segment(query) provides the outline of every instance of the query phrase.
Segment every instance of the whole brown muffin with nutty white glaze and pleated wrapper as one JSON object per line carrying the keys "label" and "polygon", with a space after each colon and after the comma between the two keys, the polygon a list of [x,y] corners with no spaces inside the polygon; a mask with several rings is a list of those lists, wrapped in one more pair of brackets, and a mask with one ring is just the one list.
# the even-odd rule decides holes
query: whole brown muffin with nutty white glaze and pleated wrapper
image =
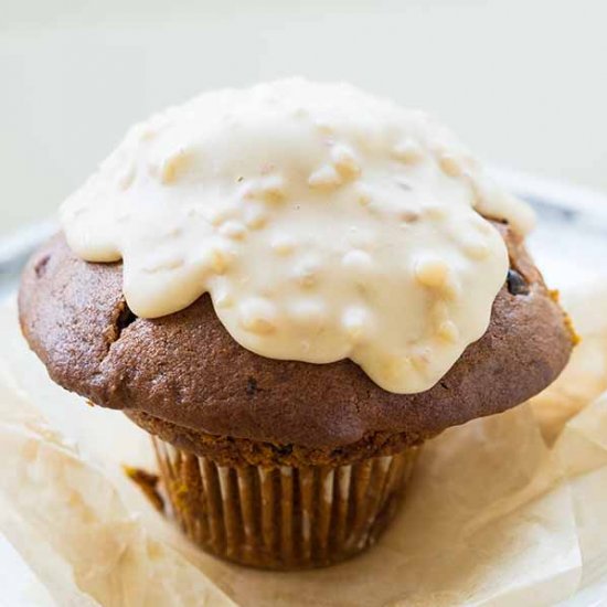
{"label": "whole brown muffin with nutty white glaze and pleated wrapper", "polygon": [[424,441],[533,396],[575,334],[531,211],[443,126],[342,84],[136,125],[28,264],[51,377],[151,436],[170,515],[264,568],[352,556]]}

